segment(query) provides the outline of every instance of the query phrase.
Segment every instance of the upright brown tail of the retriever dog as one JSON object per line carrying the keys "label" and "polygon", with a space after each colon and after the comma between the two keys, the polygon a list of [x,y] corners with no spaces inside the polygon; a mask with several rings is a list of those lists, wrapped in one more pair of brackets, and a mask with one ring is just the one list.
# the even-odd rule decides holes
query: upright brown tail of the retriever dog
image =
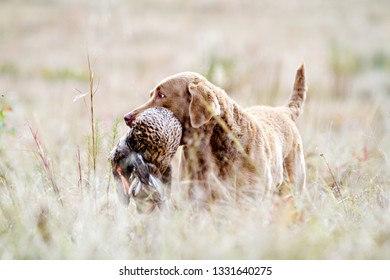
{"label": "upright brown tail of the retriever dog", "polygon": [[295,121],[301,114],[303,103],[306,99],[305,65],[302,63],[295,76],[294,89],[288,103],[291,117]]}

